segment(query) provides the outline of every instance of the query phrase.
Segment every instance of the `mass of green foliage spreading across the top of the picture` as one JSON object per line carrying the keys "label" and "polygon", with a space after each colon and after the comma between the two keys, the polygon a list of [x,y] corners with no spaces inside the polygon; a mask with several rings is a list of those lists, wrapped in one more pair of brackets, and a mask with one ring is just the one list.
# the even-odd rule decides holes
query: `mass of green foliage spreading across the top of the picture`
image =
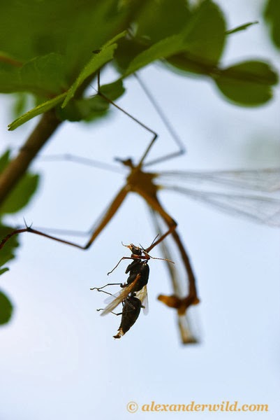
{"label": "mass of green foliage spreading across the top of the picture", "polygon": [[[105,116],[108,106],[102,104],[100,109],[97,99],[85,99],[83,94],[108,63],[124,79],[161,60],[185,76],[196,73],[214,79],[235,104],[264,104],[277,82],[270,64],[241,62],[223,69],[221,63],[227,36],[253,23],[240,22],[239,27],[227,29],[221,8],[211,0],[195,6],[186,0],[2,2],[0,92],[29,92],[37,104],[10,130],[52,108],[61,120]],[[267,71],[260,71],[262,66]],[[111,96],[117,99],[123,92]]]}

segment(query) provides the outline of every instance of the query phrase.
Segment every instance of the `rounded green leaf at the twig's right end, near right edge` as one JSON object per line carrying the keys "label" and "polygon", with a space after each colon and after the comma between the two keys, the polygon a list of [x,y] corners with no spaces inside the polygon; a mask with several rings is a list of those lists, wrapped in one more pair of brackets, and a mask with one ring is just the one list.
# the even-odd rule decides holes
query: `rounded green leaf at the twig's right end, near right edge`
{"label": "rounded green leaf at the twig's right end, near right edge", "polygon": [[278,76],[270,64],[247,61],[221,70],[214,80],[230,101],[258,106],[272,98],[272,85],[278,82]]}

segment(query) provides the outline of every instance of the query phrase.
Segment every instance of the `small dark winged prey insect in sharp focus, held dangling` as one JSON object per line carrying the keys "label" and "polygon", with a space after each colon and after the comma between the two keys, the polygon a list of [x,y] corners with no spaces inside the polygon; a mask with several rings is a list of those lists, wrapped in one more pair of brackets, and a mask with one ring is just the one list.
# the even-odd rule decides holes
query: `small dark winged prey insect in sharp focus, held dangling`
{"label": "small dark winged prey insect in sharp focus, held dangling", "polygon": [[115,315],[121,315],[121,325],[119,325],[119,330],[117,332],[117,335],[114,335],[114,338],[121,338],[122,335],[124,335],[131,326],[135,323],[137,320],[141,307],[145,309],[145,312],[147,312],[147,283],[149,280],[149,265],[148,261],[150,258],[153,258],[155,260],[165,260],[169,263],[173,263],[172,261],[168,260],[167,258],[155,258],[151,257],[149,255],[149,251],[154,248],[154,246],[158,245],[172,233],[172,231],[175,228],[171,228],[166,232],[164,235],[162,235],[157,241],[153,241],[152,245],[149,246],[149,248],[140,248],[138,246],[135,246],[133,244],[130,245],[124,245],[126,248],[131,250],[131,256],[130,257],[123,257],[117,265],[110,271],[108,274],[112,273],[115,268],[119,265],[119,263],[122,260],[131,259],[133,262],[126,267],[126,274],[129,274],[128,279],[126,280],[126,283],[108,283],[105,286],[101,288],[91,288],[91,290],[98,290],[102,291],[103,293],[107,293],[109,295],[112,295],[112,293],[108,293],[107,291],[103,290],[103,288],[107,286],[114,286],[118,284],[121,286],[121,289],[119,293],[112,297],[114,299],[112,302],[108,304],[105,309],[98,309],[102,310],[101,315],[109,314],[110,312],[113,312],[113,310],[120,304],[123,304],[123,309],[119,314]]}

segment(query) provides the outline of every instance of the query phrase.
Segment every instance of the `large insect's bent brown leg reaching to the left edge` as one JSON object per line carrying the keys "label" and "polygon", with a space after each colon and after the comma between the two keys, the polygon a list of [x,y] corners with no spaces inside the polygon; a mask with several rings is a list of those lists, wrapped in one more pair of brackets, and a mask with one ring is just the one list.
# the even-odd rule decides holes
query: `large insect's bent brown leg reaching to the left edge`
{"label": "large insect's bent brown leg reaching to the left edge", "polygon": [[121,203],[124,201],[127,193],[128,193],[128,190],[126,189],[126,186],[124,186],[124,188],[121,188],[119,193],[116,195],[115,199],[112,200],[112,203],[108,207],[108,210],[105,212],[104,216],[101,218],[101,222],[94,229],[94,232],[91,233],[91,237],[89,238],[89,241],[87,241],[87,244],[85,244],[84,246],[80,245],[80,244],[76,244],[75,242],[72,242],[72,241],[66,241],[65,239],[54,237],[52,235],[47,235],[44,232],[40,232],[39,230],[32,229],[31,226],[27,226],[27,228],[25,228],[25,229],[14,230],[13,232],[10,232],[6,237],[4,237],[1,241],[1,243],[0,243],[0,250],[6,244],[8,239],[10,239],[10,237],[13,237],[14,235],[18,235],[18,234],[23,233],[23,232],[34,233],[35,235],[40,235],[40,236],[43,236],[43,237],[46,237],[46,238],[49,238],[49,239],[53,239],[54,241],[61,242],[62,244],[75,246],[76,248],[80,248],[80,249],[83,249],[83,250],[88,249],[91,246],[91,244],[94,242],[96,237],[98,237],[98,235],[101,233],[101,231],[110,222],[111,218],[115,215],[115,213],[117,212],[117,210],[121,206]]}

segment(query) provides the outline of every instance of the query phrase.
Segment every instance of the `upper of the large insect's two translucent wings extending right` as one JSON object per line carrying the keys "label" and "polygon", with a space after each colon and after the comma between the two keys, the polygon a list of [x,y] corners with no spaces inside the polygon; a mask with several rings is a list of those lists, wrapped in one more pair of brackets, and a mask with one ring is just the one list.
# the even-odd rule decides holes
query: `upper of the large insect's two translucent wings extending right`
{"label": "upper of the large insect's two translucent wings extending right", "polygon": [[280,189],[280,168],[243,169],[234,171],[166,171],[158,174],[163,183],[188,183],[203,188],[229,187],[271,193]]}

